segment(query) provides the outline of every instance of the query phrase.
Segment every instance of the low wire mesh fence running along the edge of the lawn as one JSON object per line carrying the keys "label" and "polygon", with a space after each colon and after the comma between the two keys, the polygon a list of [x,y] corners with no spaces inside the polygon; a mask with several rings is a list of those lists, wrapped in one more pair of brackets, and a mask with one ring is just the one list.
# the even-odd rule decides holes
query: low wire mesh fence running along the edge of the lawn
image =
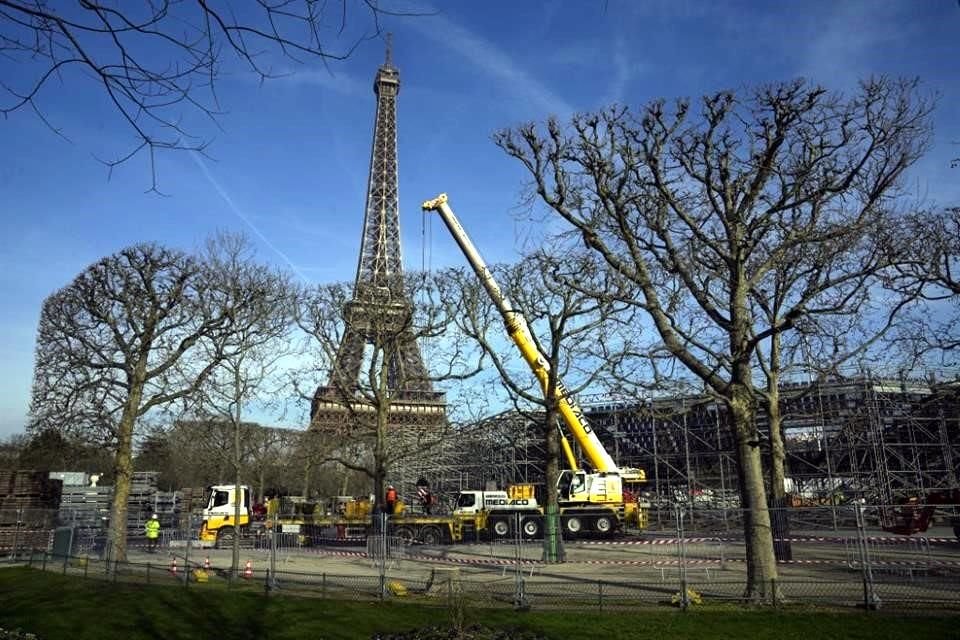
{"label": "low wire mesh fence running along the edge of the lawn", "polygon": [[[201,563],[106,562],[98,558],[32,553],[25,562],[38,569],[114,583],[180,585],[210,588],[220,583],[270,595],[306,595],[350,600],[403,599],[437,606],[514,607],[535,609],[615,610],[669,604],[687,608],[701,602],[743,601],[744,581],[722,573],[667,572],[622,579],[593,579],[549,575],[527,576],[506,571],[482,579],[462,574],[456,567],[435,567],[422,574],[409,571],[386,574],[306,572],[253,568],[249,561],[236,574],[229,566]],[[202,573],[201,573],[202,572]],[[782,578],[766,590],[766,602],[775,606],[816,604],[831,607],[948,608],[958,607],[960,580],[956,576],[888,576],[872,585],[856,574],[845,579]]]}

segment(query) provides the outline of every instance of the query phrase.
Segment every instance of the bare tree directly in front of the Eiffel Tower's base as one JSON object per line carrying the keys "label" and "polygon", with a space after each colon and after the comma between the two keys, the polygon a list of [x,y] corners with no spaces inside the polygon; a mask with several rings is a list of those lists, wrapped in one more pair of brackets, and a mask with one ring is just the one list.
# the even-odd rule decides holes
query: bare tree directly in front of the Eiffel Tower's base
{"label": "bare tree directly in front of the Eiffel Tower's base", "polygon": [[[444,291],[451,282],[442,276],[408,273],[402,286],[401,300],[384,298],[394,295],[385,287],[354,291],[351,285],[333,284],[308,289],[299,296],[296,311],[297,323],[317,363],[312,368],[314,376],[302,372],[300,388],[304,389],[305,380],[326,376],[332,390],[327,398],[301,393],[314,402],[312,416],[317,415],[318,402],[334,408],[340,416],[336,425],[325,428],[332,430],[327,437],[341,446],[324,453],[329,460],[372,481],[378,509],[383,505],[387,475],[405,462],[424,459],[447,435],[447,420],[442,415],[434,420],[410,411],[410,403],[419,401],[408,394],[420,392],[408,390],[422,389],[426,383],[434,386],[464,380],[480,370],[476,349],[451,335],[454,318],[462,313],[459,298]],[[362,326],[366,336],[359,380],[349,380],[336,369],[350,323]],[[432,371],[418,373],[417,367],[402,362],[400,355],[410,351],[409,340],[421,346],[442,343],[430,347],[442,351],[442,356],[424,358]],[[311,428],[324,425],[312,424]]]}

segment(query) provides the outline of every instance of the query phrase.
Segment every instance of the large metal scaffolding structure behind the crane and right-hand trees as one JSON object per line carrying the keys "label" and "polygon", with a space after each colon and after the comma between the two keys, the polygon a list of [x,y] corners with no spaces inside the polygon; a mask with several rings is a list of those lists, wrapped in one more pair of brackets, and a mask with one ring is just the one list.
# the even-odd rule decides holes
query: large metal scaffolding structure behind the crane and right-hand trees
{"label": "large metal scaffolding structure behind the crane and right-hand trees", "polygon": [[[739,506],[725,407],[706,395],[583,403],[618,464],[647,474],[656,506]],[[960,383],[870,375],[781,387],[788,491],[803,504],[892,504],[958,486]],[[757,416],[769,455],[769,425]],[[543,482],[543,425],[516,412],[464,429],[434,459],[448,490]]]}

